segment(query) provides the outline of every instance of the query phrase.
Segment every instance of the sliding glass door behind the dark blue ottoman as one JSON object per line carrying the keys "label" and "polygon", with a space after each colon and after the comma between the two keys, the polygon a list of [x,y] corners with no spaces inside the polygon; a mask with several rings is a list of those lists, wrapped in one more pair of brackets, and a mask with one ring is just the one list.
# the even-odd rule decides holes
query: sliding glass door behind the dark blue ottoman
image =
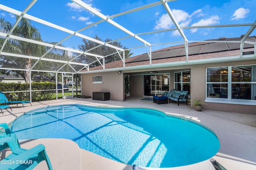
{"label": "sliding glass door behind the dark blue ottoman", "polygon": [[148,74],[143,77],[144,96],[156,96],[169,91],[169,74]]}

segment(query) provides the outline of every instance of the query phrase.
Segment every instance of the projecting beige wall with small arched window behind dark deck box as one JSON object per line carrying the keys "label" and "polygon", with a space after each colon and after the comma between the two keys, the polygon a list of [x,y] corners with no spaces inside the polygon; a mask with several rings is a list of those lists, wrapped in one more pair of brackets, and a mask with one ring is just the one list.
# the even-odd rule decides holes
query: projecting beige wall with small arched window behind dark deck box
{"label": "projecting beige wall with small arched window behind dark deck box", "polygon": [[[102,83],[93,83],[93,76],[102,76]],[[124,77],[116,72],[82,74],[82,95],[91,96],[92,92],[110,92],[110,100],[123,101]]]}

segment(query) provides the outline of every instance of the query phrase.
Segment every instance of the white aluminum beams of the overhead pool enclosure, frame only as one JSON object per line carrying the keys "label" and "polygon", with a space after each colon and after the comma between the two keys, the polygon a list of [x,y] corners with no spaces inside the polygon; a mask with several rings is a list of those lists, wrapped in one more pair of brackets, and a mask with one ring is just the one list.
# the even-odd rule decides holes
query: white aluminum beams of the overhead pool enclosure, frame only
{"label": "white aluminum beams of the overhead pool enclosure, frame only", "polygon": [[[54,59],[46,59],[44,58],[44,56],[49,52],[47,51],[44,55],[40,56],[40,57],[33,57],[33,56],[26,56],[26,55],[17,55],[17,54],[13,54],[13,53],[4,53],[2,52],[3,48],[4,48],[4,45],[1,47],[0,49],[0,54],[1,55],[9,55],[9,56],[13,56],[13,57],[22,57],[22,58],[30,58],[30,59],[35,59],[37,60],[36,63],[27,71],[35,71],[33,70],[34,66],[38,63],[38,61],[42,60],[42,61],[52,61],[52,62],[58,62],[58,63],[63,63],[63,66],[61,68],[63,68],[64,66],[68,65],[70,68],[72,68],[72,70],[74,70],[74,74],[76,73],[88,73],[88,72],[91,72],[90,71],[90,64],[92,63],[95,63],[95,62],[99,62],[100,65],[102,66],[102,70],[100,71],[110,71],[110,70],[124,70],[124,69],[134,69],[134,68],[140,68],[142,66],[135,66],[135,67],[131,67],[131,68],[126,68],[126,64],[125,64],[125,56],[124,56],[124,51],[126,50],[130,50],[130,49],[136,49],[136,48],[142,48],[142,47],[149,47],[149,51],[148,51],[148,57],[149,57],[149,64],[146,65],[146,67],[162,67],[162,66],[167,66],[167,65],[177,65],[177,64],[188,64],[188,63],[194,63],[194,62],[204,62],[204,63],[209,63],[209,62],[213,62],[215,61],[216,59],[208,59],[207,61],[204,60],[204,61],[192,61],[192,60],[189,60],[189,57],[188,57],[188,43],[190,42],[220,42],[220,43],[225,43],[227,41],[193,41],[193,40],[188,40],[186,38],[186,35],[184,34],[184,32],[182,31],[183,29],[195,29],[195,28],[215,28],[215,27],[245,27],[245,26],[250,26],[250,28],[248,29],[248,31],[246,32],[246,34],[242,37],[241,41],[228,41],[230,43],[240,43],[240,56],[237,58],[236,56],[233,58],[233,59],[229,59],[230,61],[231,60],[239,60],[239,59],[242,59],[243,58],[243,55],[242,55],[242,51],[243,51],[243,48],[244,48],[244,43],[250,43],[250,44],[254,44],[254,47],[256,47],[256,42],[248,42],[246,41],[246,39],[250,36],[250,34],[254,31],[254,29],[256,28],[256,21],[254,23],[243,23],[243,24],[228,24],[228,25],[204,25],[204,26],[190,26],[190,27],[180,27],[180,25],[178,24],[178,22],[176,21],[176,18],[174,17],[168,3],[172,3],[172,1],[175,1],[175,0],[159,0],[158,2],[154,2],[152,4],[147,4],[147,5],[144,5],[144,6],[141,6],[141,7],[138,7],[138,8],[134,8],[134,9],[131,9],[131,10],[127,10],[127,11],[124,11],[124,12],[120,12],[119,14],[114,14],[112,16],[106,16],[102,13],[100,13],[98,10],[92,8],[89,4],[86,4],[85,2],[83,2],[82,0],[71,0],[72,2],[76,3],[77,5],[79,5],[80,7],[82,7],[84,10],[87,10],[88,12],[91,12],[92,14],[94,14],[95,16],[98,16],[98,18],[100,19],[99,21],[96,21],[95,23],[92,23],[86,27],[83,27],[77,31],[73,31],[73,30],[70,30],[70,29],[67,29],[65,27],[62,27],[60,25],[56,25],[55,23],[51,23],[49,21],[45,21],[45,20],[42,20],[40,18],[36,18],[32,15],[29,15],[29,14],[26,14],[28,12],[28,10],[34,5],[36,4],[37,0],[32,0],[30,2],[30,4],[28,4],[28,6],[21,12],[21,11],[18,11],[18,10],[15,10],[13,8],[10,8],[8,6],[4,6],[2,4],[0,4],[0,10],[4,10],[6,12],[9,12],[11,14],[14,14],[16,16],[19,16],[18,17],[18,20],[14,23],[14,26],[12,27],[11,31],[6,34],[6,33],[2,33],[0,32],[0,36],[1,37],[4,37],[5,38],[5,43],[6,41],[9,39],[9,38],[12,38],[12,39],[17,39],[17,40],[21,40],[21,41],[26,41],[26,42],[30,42],[30,43],[35,43],[35,44],[39,44],[39,45],[44,45],[44,46],[47,46],[47,47],[50,47],[49,51],[53,48],[57,48],[57,49],[63,49],[63,50],[66,50],[66,51],[70,51],[70,52],[74,52],[74,53],[78,53],[78,55],[76,57],[74,57],[73,59],[70,59],[70,61],[61,61],[61,60],[54,60]],[[115,22],[112,20],[112,18],[115,18],[115,17],[118,17],[118,16],[123,16],[123,15],[126,15],[126,14],[130,14],[132,12],[137,12],[137,11],[140,11],[140,10],[144,10],[144,9],[147,9],[147,8],[152,8],[154,6],[158,6],[158,5],[161,5],[163,6],[163,8],[166,10],[167,14],[170,16],[170,19],[173,21],[174,25],[175,25],[175,28],[173,29],[166,29],[166,30],[159,30],[159,31],[151,31],[151,32],[144,32],[144,33],[133,33],[132,31],[126,29],[125,27],[123,27],[122,25],[120,25],[119,23]],[[11,35],[12,31],[15,29],[15,27],[18,25],[19,21],[22,19],[22,18],[27,18],[28,20],[32,20],[32,21],[36,21],[38,23],[41,23],[41,24],[44,24],[44,25],[47,25],[48,27],[52,27],[54,29],[58,29],[60,31],[63,31],[63,32],[66,32],[68,33],[69,35],[67,37],[64,37],[61,41],[59,41],[58,43],[52,45],[52,44],[49,44],[49,43],[44,43],[44,42],[40,42],[40,41],[34,41],[34,40],[31,40],[31,39],[26,39],[26,38],[23,38],[23,37],[18,37],[18,36],[14,36],[14,35]],[[119,47],[115,47],[113,45],[110,45],[110,42],[102,42],[102,41],[98,41],[97,39],[94,39],[94,38],[91,38],[91,37],[88,37],[82,33],[80,33],[81,31],[85,30],[85,29],[88,29],[98,23],[101,23],[101,22],[106,22],[108,24],[111,24],[113,25],[114,27],[120,29],[121,31],[123,31],[124,33],[127,33],[128,36],[127,37],[120,37],[119,39],[115,39],[113,41],[118,41],[118,40],[122,40],[122,39],[127,39],[127,38],[130,38],[130,37],[133,37],[134,39],[138,40],[138,41],[141,41],[144,45],[142,46],[138,46],[138,47],[131,47],[130,49],[122,49],[122,48],[119,48]],[[153,34],[153,33],[159,33],[159,32],[164,32],[164,31],[174,31],[174,30],[178,30],[178,32],[180,33],[180,35],[182,36],[183,38],[183,41],[180,41],[180,42],[169,42],[169,43],[157,43],[157,44],[152,44],[150,42],[147,42],[146,40],[142,39],[141,37],[139,37],[139,35],[145,35],[145,34]],[[58,46],[60,43],[62,43],[63,41],[69,39],[70,37],[72,36],[77,36],[77,37],[80,37],[80,38],[84,38],[84,39],[87,39],[87,40],[90,40],[90,41],[93,41],[93,42],[96,42],[96,43],[99,43],[100,45],[98,45],[97,47],[100,47],[102,45],[105,45],[107,47],[110,47],[110,48],[113,48],[115,49],[115,53],[113,54],[118,54],[123,62],[123,68],[116,68],[116,69],[105,69],[105,60],[104,58],[105,57],[108,57],[110,55],[113,55],[113,54],[109,54],[109,55],[106,55],[106,56],[100,56],[100,55],[97,55],[97,54],[92,54],[92,53],[89,53],[92,49],[89,49],[87,51],[79,51],[79,50],[75,50],[75,49],[69,49],[69,48],[66,48],[66,47],[60,47]],[[172,62],[172,63],[162,63],[162,64],[152,64],[152,45],[161,45],[161,44],[172,44],[172,43],[183,43],[184,44],[184,47],[185,47],[185,53],[186,53],[186,63],[184,62]],[[94,47],[93,49],[97,48],[97,47]],[[123,53],[123,56],[120,55],[120,52]],[[254,48],[254,55],[253,56],[250,56],[252,57],[252,59],[256,59],[256,55],[255,55],[255,52],[256,52],[256,48]],[[86,64],[86,63],[76,63],[74,62],[74,60],[76,58],[78,58],[80,55],[88,55],[88,56],[92,56],[92,57],[95,57],[95,61],[93,61],[92,63],[89,63],[89,64]],[[103,62],[101,63],[100,62],[100,59],[103,59]],[[220,58],[220,60],[225,60],[226,61],[226,58],[225,57],[222,57]],[[83,68],[80,69],[80,70],[75,70],[70,64],[76,64],[76,65],[82,65]],[[60,72],[60,69],[58,70],[55,70],[56,72]],[[3,68],[0,68],[0,69],[3,69]],[[86,71],[83,71],[86,69]],[[25,69],[24,69],[25,70]],[[94,72],[94,71],[93,71]]]}

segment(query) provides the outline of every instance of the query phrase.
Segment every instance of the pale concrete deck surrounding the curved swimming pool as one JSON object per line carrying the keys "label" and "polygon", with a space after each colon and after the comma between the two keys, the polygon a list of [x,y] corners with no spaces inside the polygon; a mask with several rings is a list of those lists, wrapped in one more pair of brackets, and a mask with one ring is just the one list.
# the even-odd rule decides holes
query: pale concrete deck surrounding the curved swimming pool
{"label": "pale concrete deck surrounding the curved swimming pool", "polygon": [[[32,109],[54,106],[59,104],[86,104],[89,106],[117,106],[117,107],[152,107],[165,111],[167,114],[178,115],[198,121],[211,128],[220,140],[220,150],[213,156],[222,166],[228,170],[255,170],[256,169],[256,115],[229,113],[221,111],[203,110],[201,112],[190,110],[189,106],[176,102],[169,104],[155,104],[150,101],[140,100],[142,97],[128,97],[126,101],[97,101],[92,98],[70,98],[64,100],[49,100],[32,102],[16,107],[11,105],[12,110],[4,109],[0,114],[0,123],[10,123],[26,111]],[[51,160],[53,169],[58,170],[132,170],[131,165],[122,164],[79,149],[78,145],[68,139],[36,139],[20,141],[24,148],[31,148],[42,143]],[[210,146],[209,146],[210,147]],[[3,154],[1,154],[1,158]],[[36,170],[45,170],[46,163],[43,161]],[[209,160],[180,166],[175,168],[142,168],[140,170],[214,170]]]}

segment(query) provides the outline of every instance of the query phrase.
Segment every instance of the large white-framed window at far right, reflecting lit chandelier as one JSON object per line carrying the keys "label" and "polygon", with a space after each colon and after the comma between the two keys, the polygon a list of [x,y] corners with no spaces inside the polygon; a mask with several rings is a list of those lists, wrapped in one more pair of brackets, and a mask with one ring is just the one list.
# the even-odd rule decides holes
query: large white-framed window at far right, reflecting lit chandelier
{"label": "large white-framed window at far right, reflecting lit chandelier", "polygon": [[206,97],[256,100],[256,66],[207,68]]}

